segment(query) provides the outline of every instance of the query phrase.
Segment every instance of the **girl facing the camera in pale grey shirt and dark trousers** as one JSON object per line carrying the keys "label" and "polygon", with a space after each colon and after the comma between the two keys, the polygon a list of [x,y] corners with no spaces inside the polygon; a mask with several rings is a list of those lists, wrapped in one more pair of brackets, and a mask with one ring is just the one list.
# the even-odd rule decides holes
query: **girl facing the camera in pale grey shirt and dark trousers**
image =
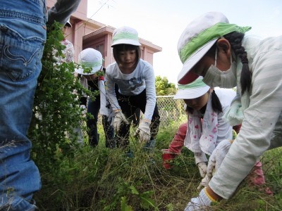
{"label": "girl facing the camera in pale grey shirt and dark trousers", "polygon": [[[135,132],[145,147],[154,148],[159,129],[159,111],[152,65],[140,58],[138,33],[124,26],[114,30],[113,47],[115,63],[106,68],[107,94],[114,110],[116,145],[128,148],[130,122],[135,110],[140,108],[143,119]],[[115,92],[118,84],[118,92]]]}

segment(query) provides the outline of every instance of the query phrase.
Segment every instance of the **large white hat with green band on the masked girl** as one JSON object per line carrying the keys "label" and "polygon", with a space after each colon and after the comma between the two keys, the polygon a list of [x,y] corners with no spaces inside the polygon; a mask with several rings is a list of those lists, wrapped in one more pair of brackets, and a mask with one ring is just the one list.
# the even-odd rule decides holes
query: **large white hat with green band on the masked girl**
{"label": "large white hat with green band on the masked girl", "polygon": [[190,70],[212,48],[217,39],[230,32],[245,33],[251,27],[229,24],[223,13],[209,12],[193,20],[180,35],[178,55],[183,68],[178,74],[178,84],[188,84],[197,77]]}

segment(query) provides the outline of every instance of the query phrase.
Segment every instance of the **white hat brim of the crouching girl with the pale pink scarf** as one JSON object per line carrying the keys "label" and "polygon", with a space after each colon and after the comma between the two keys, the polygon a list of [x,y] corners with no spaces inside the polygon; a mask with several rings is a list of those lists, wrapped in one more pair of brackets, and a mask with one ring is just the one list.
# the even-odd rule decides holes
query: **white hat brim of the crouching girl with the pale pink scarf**
{"label": "white hat brim of the crouching girl with the pale pink scarf", "polygon": [[209,91],[209,86],[194,89],[178,89],[173,99],[194,99],[206,94],[207,91]]}

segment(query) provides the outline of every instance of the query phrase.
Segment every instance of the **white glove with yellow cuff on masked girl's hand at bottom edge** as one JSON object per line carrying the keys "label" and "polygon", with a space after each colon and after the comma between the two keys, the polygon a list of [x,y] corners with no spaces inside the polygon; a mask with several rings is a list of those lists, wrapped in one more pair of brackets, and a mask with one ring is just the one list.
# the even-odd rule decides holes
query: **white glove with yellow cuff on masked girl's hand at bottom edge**
{"label": "white glove with yellow cuff on masked girl's hand at bottom edge", "polygon": [[209,210],[208,208],[212,205],[212,202],[216,202],[216,200],[214,200],[212,196],[209,196],[206,188],[203,188],[198,197],[191,198],[184,211]]}

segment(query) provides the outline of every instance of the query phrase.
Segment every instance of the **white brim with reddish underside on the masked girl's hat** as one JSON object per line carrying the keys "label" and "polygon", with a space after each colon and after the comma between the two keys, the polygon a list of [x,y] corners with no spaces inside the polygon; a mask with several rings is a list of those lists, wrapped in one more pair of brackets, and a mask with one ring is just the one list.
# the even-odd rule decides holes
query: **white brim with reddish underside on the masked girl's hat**
{"label": "white brim with reddish underside on the masked girl's hat", "polygon": [[185,61],[182,70],[178,73],[178,84],[190,84],[199,77],[199,75],[196,75],[194,72],[190,72],[190,70],[199,62],[204,54],[212,48],[217,39],[218,38],[213,39],[212,41],[207,42],[207,44],[204,44],[204,46],[198,49],[188,60]]}

